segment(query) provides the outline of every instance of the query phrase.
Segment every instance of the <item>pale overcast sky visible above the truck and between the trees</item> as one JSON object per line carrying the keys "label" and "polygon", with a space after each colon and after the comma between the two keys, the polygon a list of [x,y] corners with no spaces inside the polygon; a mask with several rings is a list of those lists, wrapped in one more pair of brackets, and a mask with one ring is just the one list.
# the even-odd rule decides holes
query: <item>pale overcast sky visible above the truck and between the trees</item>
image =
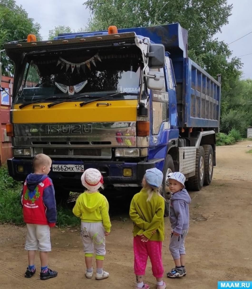
{"label": "pale overcast sky visible above the truck and between the trees", "polygon": [[[82,5],[85,0],[16,0],[18,5],[28,12],[29,17],[41,25],[40,35],[44,40],[48,39],[49,30],[58,25],[70,26],[78,30],[84,27],[90,17],[86,6]],[[207,0],[206,0],[207,1]],[[222,27],[222,33],[216,37],[226,43],[230,43],[245,34],[252,32],[251,0],[228,0],[233,4],[232,15],[229,24]],[[241,56],[252,53],[252,33],[229,45],[233,56]],[[244,78],[252,78],[252,54],[241,57]]]}

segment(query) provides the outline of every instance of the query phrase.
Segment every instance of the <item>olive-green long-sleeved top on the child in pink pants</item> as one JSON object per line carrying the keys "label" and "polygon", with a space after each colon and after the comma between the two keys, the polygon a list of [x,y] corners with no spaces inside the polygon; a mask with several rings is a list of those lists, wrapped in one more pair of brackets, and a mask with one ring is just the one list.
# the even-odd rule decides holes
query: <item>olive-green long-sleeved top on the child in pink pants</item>
{"label": "olive-green long-sleeved top on the child in pink pants", "polygon": [[[134,223],[133,236],[143,234],[151,241],[164,240],[164,199],[153,194],[147,202],[145,189],[135,194],[129,209],[129,216]],[[154,235],[152,232],[156,231]]]}

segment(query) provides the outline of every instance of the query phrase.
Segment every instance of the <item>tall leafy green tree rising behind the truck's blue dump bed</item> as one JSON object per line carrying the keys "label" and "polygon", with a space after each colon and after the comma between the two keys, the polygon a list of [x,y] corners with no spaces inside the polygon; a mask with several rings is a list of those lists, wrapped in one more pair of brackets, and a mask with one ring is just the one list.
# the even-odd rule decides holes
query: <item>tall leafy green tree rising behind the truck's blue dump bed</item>
{"label": "tall leafy green tree rising behind the truck's blue dump bed", "polygon": [[88,0],[92,13],[87,29],[104,30],[110,25],[118,28],[141,27],[179,22],[188,30],[188,55],[211,75],[221,74],[225,90],[230,77],[239,77],[241,62],[232,58],[224,42],[213,39],[228,23],[232,5],[227,0]]}

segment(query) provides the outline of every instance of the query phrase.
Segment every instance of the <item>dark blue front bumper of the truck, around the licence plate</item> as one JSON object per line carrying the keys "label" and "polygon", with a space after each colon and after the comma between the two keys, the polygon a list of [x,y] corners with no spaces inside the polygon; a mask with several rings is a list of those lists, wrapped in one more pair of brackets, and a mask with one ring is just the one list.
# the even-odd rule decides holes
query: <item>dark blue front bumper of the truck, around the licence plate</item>
{"label": "dark blue front bumper of the truck, around the licence plate", "polygon": [[[106,187],[113,186],[127,186],[135,185],[140,186],[142,178],[145,174],[145,171],[149,168],[154,168],[159,162],[162,162],[163,159],[151,160],[149,162],[112,162],[112,161],[71,161],[71,160],[53,160],[53,164],[76,164],[84,165],[84,170],[88,168],[97,168],[101,171],[104,179],[104,185]],[[9,159],[7,160],[9,174],[13,179],[17,181],[24,181],[26,176],[29,173],[33,172],[32,160],[24,159]],[[22,172],[20,172],[20,168]],[[19,167],[19,170],[18,170]],[[124,177],[123,169],[131,168],[132,176]],[[81,185],[82,173],[76,172],[55,172],[50,171],[49,177],[53,180],[54,186],[60,186],[67,190],[72,191],[81,191],[83,187]]]}

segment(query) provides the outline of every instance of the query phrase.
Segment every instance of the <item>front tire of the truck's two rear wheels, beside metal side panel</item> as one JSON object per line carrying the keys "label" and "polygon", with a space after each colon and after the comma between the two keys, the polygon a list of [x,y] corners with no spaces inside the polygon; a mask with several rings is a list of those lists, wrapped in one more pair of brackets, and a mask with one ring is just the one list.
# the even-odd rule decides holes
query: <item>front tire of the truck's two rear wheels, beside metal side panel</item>
{"label": "front tire of the truck's two rear wheels, beside metal side panel", "polygon": [[202,146],[196,151],[195,175],[187,182],[189,190],[200,191],[205,179],[205,152]]}

